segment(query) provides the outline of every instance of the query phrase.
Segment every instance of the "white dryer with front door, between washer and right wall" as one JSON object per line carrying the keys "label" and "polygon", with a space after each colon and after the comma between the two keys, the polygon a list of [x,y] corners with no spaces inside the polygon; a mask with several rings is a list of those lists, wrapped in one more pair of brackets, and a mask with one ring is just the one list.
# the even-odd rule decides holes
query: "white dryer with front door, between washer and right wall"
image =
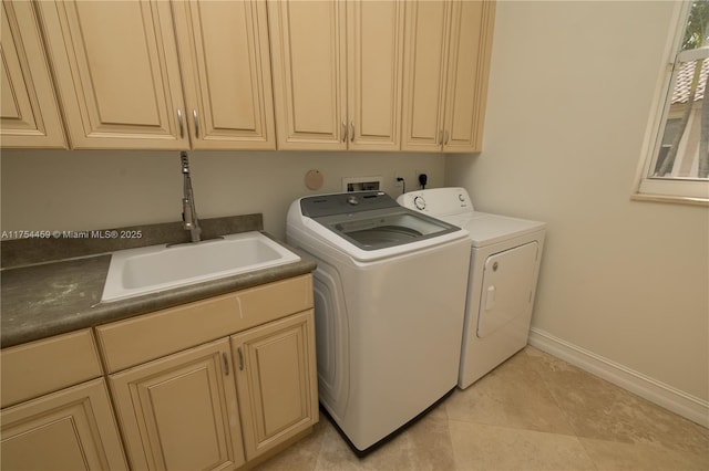
{"label": "white dryer with front door, between washer and right wall", "polygon": [[397,201],[470,233],[458,379],[464,389],[527,344],[546,224],[475,211],[464,188],[411,191]]}

